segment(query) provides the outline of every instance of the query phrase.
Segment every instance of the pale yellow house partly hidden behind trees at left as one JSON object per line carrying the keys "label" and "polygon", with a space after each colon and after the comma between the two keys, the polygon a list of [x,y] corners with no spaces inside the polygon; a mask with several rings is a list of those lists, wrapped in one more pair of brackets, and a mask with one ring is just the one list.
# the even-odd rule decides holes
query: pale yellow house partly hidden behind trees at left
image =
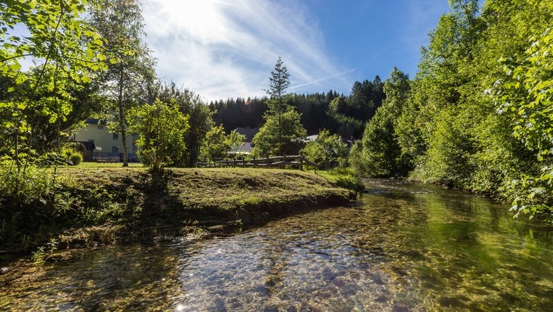
{"label": "pale yellow house partly hidden behind trees at left", "polygon": [[[121,136],[118,133],[109,133],[106,128],[106,121],[99,119],[87,119],[86,127],[78,130],[73,135],[75,142],[82,143],[86,147],[84,161],[93,161],[97,158],[109,158],[123,162],[123,146]],[[136,152],[136,140],[138,135],[127,135],[128,160],[138,162]]]}

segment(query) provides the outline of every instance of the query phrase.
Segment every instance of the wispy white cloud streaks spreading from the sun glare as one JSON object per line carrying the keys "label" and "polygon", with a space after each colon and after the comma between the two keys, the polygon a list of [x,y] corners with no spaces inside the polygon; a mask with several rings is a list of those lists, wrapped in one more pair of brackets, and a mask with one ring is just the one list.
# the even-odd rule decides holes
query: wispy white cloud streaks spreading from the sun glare
{"label": "wispy white cloud streaks spreading from the sun glare", "polygon": [[143,15],[160,76],[208,101],[263,95],[279,56],[294,91],[352,83],[352,69],[330,62],[318,21],[298,1],[144,0]]}

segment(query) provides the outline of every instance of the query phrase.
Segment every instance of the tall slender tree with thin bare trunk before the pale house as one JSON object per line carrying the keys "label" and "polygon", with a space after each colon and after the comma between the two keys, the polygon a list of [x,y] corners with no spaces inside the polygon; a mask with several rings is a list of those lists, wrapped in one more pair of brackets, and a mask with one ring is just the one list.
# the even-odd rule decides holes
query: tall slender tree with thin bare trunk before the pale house
{"label": "tall slender tree with thin bare trunk before the pale house", "polygon": [[109,99],[112,122],[108,128],[121,133],[123,167],[127,167],[126,111],[146,101],[145,90],[155,79],[155,59],[143,42],[144,24],[138,1],[101,0],[101,4],[101,9],[91,10],[91,24],[98,30],[108,52],[108,69],[101,77]]}

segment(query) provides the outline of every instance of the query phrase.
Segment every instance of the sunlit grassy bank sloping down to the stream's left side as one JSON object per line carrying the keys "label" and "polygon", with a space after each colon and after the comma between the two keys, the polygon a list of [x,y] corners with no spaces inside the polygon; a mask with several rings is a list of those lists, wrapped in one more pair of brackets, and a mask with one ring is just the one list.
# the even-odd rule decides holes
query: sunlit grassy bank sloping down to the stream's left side
{"label": "sunlit grassy bank sloping down to the stream's left side", "polygon": [[296,170],[172,169],[162,182],[152,182],[140,167],[57,172],[52,193],[3,225],[2,250],[220,233],[306,207],[344,204],[354,196],[324,177]]}

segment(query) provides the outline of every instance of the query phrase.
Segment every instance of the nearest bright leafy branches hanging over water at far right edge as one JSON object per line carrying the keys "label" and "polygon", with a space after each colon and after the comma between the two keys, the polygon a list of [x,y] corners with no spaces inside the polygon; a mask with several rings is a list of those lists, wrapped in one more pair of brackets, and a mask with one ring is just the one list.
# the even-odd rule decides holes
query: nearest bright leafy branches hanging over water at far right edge
{"label": "nearest bright leafy branches hanging over water at far right edge", "polygon": [[496,82],[493,99],[507,116],[513,135],[535,157],[534,170],[513,179],[517,213],[550,211],[553,206],[553,31],[530,38],[523,55],[503,59],[506,77]]}

